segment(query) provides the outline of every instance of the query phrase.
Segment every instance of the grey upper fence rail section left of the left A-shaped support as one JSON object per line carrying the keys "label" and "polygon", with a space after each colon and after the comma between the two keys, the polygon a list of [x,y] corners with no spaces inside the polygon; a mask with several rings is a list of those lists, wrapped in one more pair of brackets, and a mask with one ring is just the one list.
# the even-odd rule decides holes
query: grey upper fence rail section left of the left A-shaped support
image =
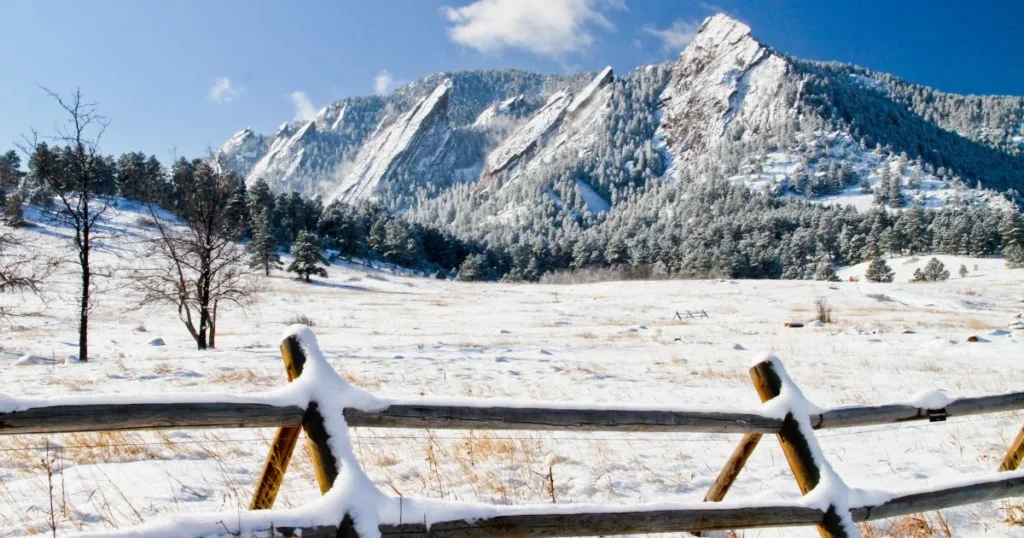
{"label": "grey upper fence rail section left of the left A-shaped support", "polygon": [[0,434],[301,424],[305,410],[266,404],[102,404],[0,413]]}

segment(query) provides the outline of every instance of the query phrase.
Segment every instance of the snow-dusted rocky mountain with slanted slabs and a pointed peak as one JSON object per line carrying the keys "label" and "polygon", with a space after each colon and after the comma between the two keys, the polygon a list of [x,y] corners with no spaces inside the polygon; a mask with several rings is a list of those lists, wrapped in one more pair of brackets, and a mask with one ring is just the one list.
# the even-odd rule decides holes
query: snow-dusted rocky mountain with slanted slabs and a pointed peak
{"label": "snow-dusted rocky mountain with slanted slabs and a pointed peak", "polygon": [[675,61],[621,76],[431,75],[271,136],[243,130],[217,159],[279,192],[526,225],[614,210],[673,179],[865,206],[1013,198],[1024,191],[1022,140],[1021,97],[794,58],[718,14]]}

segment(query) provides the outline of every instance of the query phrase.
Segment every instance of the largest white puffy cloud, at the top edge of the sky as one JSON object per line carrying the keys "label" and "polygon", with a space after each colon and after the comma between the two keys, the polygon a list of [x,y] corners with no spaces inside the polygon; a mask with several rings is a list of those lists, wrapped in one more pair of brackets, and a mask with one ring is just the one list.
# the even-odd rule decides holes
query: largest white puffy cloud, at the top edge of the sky
{"label": "largest white puffy cloud, at the top edge of the sky", "polygon": [[443,11],[456,43],[480,52],[520,48],[557,57],[588,48],[595,26],[614,30],[601,14],[607,8],[626,5],[623,0],[477,0]]}

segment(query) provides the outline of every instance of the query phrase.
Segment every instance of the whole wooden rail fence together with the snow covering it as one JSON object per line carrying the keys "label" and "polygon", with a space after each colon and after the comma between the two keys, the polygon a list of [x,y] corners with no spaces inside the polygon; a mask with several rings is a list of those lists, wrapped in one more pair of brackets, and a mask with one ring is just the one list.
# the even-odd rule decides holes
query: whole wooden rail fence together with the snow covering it
{"label": "whole wooden rail fence together with the snow covering it", "polygon": [[[250,504],[243,513],[177,516],[125,530],[131,536],[604,536],[817,526],[825,537],[859,536],[858,522],[1024,495],[1024,429],[998,474],[916,492],[848,488],[817,444],[816,429],[891,424],[1024,409],[1024,392],[819,410],[781,363],[766,357],[751,368],[764,403],[752,411],[573,406],[487,400],[385,401],[349,385],[325,361],[315,337],[293,327],[281,344],[289,381],[282,389],[246,396],[63,397],[0,395],[0,434],[199,427],[272,427],[276,437]],[[389,497],[362,472],[348,427],[689,431],[743,433],[702,503],[633,507],[593,505],[494,506]],[[300,431],[309,441],[324,494],[310,505],[272,510]],[[723,502],[765,433],[777,436],[804,496],[797,502]],[[114,534],[117,534],[115,532]],[[106,532],[104,535],[110,535]]]}

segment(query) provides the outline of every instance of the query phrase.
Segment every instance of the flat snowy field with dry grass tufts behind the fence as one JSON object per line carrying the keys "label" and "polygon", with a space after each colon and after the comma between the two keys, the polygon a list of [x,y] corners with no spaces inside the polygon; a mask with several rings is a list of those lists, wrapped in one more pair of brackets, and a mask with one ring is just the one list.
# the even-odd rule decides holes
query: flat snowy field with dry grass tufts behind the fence
{"label": "flat snowy field with dry grass tufts behind the fence", "polygon": [[[296,317],[315,326],[330,363],[383,396],[517,398],[603,404],[754,408],[751,359],[777,355],[819,406],[905,401],[927,388],[973,396],[1024,385],[1024,271],[1002,260],[940,256],[952,278],[910,284],[929,257],[890,260],[893,284],[668,281],[573,286],[464,284],[335,265],[312,284],[283,274],[249,312],[228,311],[217,349],[197,351],[176,313],[135,307],[119,275],[144,235],[127,233],[100,256],[88,364],[15,365],[26,354],[60,360],[76,350],[73,274],[55,275],[44,309],[0,329],[0,392],[48,397],[93,392],[244,392],[285,383],[276,349]],[[23,229],[39,252],[63,249],[61,232]],[[121,253],[122,255],[114,255]],[[969,275],[956,270],[967,265]],[[863,280],[863,279],[861,279]],[[809,322],[824,298],[836,321]],[[674,320],[676,311],[708,319]],[[971,343],[969,336],[980,341]],[[166,345],[146,342],[162,338]],[[1019,413],[942,423],[818,432],[853,487],[919,489],[993,472],[1024,424]],[[0,437],[0,535],[104,531],[179,512],[248,505],[270,429],[170,430]],[[355,429],[356,455],[382,491],[406,497],[629,504],[699,501],[738,436],[703,433],[481,432]],[[49,444],[49,451],[44,449]],[[52,471],[52,475],[50,472]],[[554,491],[549,487],[549,471]],[[318,496],[309,460],[292,461],[278,506]],[[785,459],[766,437],[728,499],[799,497]],[[874,524],[876,536],[1024,536],[1019,500]],[[865,528],[865,535],[869,535]],[[934,531],[930,533],[929,530]],[[887,534],[888,533],[888,534]],[[813,528],[742,536],[816,536]]]}

